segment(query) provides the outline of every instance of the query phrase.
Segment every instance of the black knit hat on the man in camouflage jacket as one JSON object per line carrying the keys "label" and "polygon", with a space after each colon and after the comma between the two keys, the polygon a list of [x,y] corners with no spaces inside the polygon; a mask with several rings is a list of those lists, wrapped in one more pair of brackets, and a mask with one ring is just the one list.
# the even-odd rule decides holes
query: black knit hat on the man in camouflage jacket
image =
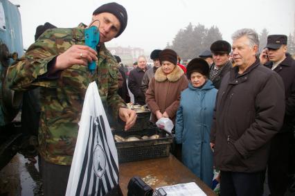
{"label": "black knit hat on the man in camouflage jacket", "polygon": [[97,8],[96,10],[94,10],[93,15],[98,15],[102,12],[108,12],[116,16],[116,18],[120,21],[120,30],[115,37],[118,37],[119,35],[121,35],[121,33],[123,33],[123,31],[125,30],[127,26],[128,16],[127,16],[127,11],[125,10],[125,8],[115,2],[106,3],[100,6],[99,8]]}

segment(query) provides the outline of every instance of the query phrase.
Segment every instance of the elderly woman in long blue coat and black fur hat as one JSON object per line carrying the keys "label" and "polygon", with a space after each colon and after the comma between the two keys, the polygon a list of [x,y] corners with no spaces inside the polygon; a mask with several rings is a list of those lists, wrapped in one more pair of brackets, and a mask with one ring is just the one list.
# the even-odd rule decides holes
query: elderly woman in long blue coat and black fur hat
{"label": "elderly woman in long blue coat and black fur hat", "polygon": [[217,89],[208,79],[208,63],[195,58],[188,63],[188,89],[181,92],[175,123],[177,143],[182,143],[182,162],[209,187],[213,180],[210,130]]}

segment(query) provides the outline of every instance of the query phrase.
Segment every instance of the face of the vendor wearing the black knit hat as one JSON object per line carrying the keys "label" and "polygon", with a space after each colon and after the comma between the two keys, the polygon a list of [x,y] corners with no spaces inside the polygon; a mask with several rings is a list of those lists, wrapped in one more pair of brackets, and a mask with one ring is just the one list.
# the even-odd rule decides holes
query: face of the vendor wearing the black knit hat
{"label": "face of the vendor wearing the black knit hat", "polygon": [[[98,21],[95,21],[98,20]],[[109,12],[102,12],[98,15],[93,15],[93,24],[91,26],[98,27],[100,31],[100,43],[109,42],[113,39],[120,30],[120,21],[115,17],[115,15]],[[91,22],[92,22],[91,21]]]}

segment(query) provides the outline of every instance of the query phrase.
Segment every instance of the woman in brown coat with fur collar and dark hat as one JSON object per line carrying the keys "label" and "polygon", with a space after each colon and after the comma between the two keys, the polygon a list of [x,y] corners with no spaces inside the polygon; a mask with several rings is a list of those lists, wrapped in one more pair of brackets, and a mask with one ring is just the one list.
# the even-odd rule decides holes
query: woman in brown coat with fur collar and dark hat
{"label": "woman in brown coat with fur collar and dark hat", "polygon": [[179,66],[177,53],[165,49],[159,54],[161,67],[157,69],[145,92],[145,102],[152,112],[152,122],[162,117],[175,123],[180,93],[188,88],[188,80]]}

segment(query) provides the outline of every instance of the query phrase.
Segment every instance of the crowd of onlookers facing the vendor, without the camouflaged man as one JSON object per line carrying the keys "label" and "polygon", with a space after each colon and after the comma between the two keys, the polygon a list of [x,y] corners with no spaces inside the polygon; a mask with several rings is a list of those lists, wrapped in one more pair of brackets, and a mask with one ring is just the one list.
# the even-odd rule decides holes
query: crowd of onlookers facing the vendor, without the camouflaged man
{"label": "crowd of onlookers facing the vendor, without the camouflaged man", "polygon": [[216,168],[221,195],[262,195],[265,176],[271,195],[284,195],[294,176],[295,60],[285,35],[269,35],[260,55],[254,30],[232,39],[187,66],[175,51],[155,49],[154,66],[138,57],[128,85],[152,122],[174,123],[172,153],[209,187]]}

